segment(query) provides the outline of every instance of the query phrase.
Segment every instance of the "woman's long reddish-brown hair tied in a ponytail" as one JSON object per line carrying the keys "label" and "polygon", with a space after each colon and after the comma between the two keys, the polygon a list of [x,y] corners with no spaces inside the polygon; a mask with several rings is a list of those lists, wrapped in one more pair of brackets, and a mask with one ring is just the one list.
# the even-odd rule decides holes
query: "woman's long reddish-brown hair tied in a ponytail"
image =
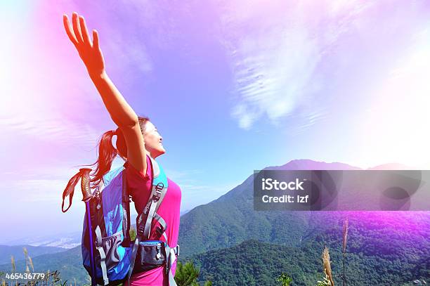
{"label": "woman's long reddish-brown hair tied in a ponytail", "polygon": [[[148,117],[138,117],[139,126],[141,127],[142,134],[145,134],[145,124],[150,121]],[[117,148],[112,144],[113,136],[117,136]],[[121,157],[127,157],[127,145],[124,138],[124,134],[122,134],[121,129],[117,128],[115,131],[110,130],[106,131],[98,141],[98,159],[94,164],[89,166],[96,166],[91,172],[91,188],[96,188],[100,181],[102,181],[103,176],[110,171],[110,167],[112,167],[112,162],[115,160],[115,157],[120,155]]]}

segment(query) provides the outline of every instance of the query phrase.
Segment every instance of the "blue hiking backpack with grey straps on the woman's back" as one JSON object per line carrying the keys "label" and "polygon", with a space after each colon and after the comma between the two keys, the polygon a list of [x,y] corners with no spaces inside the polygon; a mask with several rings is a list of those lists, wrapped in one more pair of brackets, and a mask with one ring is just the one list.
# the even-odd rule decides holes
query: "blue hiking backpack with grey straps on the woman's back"
{"label": "blue hiking backpack with grey straps on the woman's back", "polygon": [[[165,233],[167,224],[157,214],[167,192],[167,176],[162,167],[150,157],[152,190],[143,212],[138,215],[136,240],[131,241],[131,200],[126,188],[127,164],[128,162],[105,174],[93,193],[89,191],[91,169],[79,169],[63,192],[62,211],[67,212],[72,204],[74,187],[81,178],[83,201],[86,203],[82,231],[83,266],[91,275],[91,285],[118,285],[126,279],[130,282],[133,273],[166,266],[164,275],[168,276],[170,286],[176,286],[171,266],[179,255],[179,245],[169,247]],[[64,210],[67,195],[70,202]],[[153,219],[159,222],[156,229],[158,240],[149,240]],[[165,242],[159,240],[161,236],[164,236]]]}

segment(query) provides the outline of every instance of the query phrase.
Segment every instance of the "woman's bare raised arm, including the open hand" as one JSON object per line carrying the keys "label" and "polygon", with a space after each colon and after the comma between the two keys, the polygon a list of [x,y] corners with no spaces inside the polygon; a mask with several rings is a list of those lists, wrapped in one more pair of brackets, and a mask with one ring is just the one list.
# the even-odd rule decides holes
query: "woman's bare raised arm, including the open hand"
{"label": "woman's bare raised arm, including the open hand", "polygon": [[84,62],[91,80],[98,93],[100,93],[107,112],[109,112],[113,122],[117,124],[124,134],[129,163],[145,174],[146,150],[138,123],[138,116],[107,76],[105,60],[98,43],[98,32],[93,30],[93,41],[91,41],[84,17],[78,16],[77,13],[72,14],[72,26],[67,15],[63,15],[63,22],[67,36]]}

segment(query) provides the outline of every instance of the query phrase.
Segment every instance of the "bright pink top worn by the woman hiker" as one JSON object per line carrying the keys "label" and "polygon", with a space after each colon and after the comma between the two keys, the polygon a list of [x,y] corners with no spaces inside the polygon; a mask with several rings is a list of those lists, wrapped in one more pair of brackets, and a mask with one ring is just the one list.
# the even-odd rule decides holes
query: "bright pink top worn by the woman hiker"
{"label": "bright pink top worn by the woman hiker", "polygon": [[[134,202],[134,207],[136,212],[140,214],[143,211],[146,203],[149,200],[151,193],[151,181],[152,181],[152,167],[150,163],[150,158],[147,155],[147,171],[146,175],[142,172],[136,170],[131,164],[126,162],[127,168],[127,186],[129,187],[129,193]],[[167,243],[169,247],[176,247],[178,244],[178,234],[179,234],[179,218],[180,218],[180,207],[181,207],[181,188],[179,188],[174,181],[167,178],[167,183],[169,184],[167,188],[167,193],[164,196],[162,204],[159,206],[157,213],[162,216],[167,224]],[[152,221],[150,240],[155,240],[158,237],[156,232],[157,221]],[[164,238],[160,238],[164,241]],[[176,272],[176,261],[171,267],[173,275]],[[129,285],[128,282],[124,282],[124,286]],[[164,267],[157,267],[151,269],[150,271],[145,271],[141,273],[136,273],[130,278],[130,286],[167,286],[169,285],[169,279],[167,275],[164,274]]]}

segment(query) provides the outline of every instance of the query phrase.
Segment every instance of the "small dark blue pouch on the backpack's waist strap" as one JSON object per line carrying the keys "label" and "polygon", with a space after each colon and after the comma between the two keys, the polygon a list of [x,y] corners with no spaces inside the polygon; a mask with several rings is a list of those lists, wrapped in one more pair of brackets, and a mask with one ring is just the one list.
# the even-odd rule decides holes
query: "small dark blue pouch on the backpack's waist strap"
{"label": "small dark blue pouch on the backpack's waist strap", "polygon": [[136,272],[148,271],[165,264],[166,249],[163,241],[143,240],[139,242],[136,264],[134,266]]}

